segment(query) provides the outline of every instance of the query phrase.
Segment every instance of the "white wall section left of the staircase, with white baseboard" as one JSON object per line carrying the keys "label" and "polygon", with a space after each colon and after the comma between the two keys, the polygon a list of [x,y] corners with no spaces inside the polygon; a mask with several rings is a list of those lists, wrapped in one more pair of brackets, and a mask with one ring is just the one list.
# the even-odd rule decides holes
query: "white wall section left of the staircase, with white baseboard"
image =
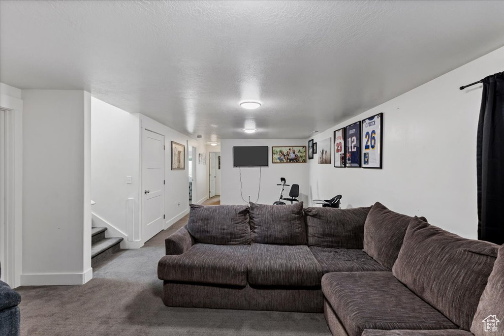
{"label": "white wall section left of the staircase, with white baseboard", "polygon": [[85,91],[23,90],[23,285],[91,279]]}

